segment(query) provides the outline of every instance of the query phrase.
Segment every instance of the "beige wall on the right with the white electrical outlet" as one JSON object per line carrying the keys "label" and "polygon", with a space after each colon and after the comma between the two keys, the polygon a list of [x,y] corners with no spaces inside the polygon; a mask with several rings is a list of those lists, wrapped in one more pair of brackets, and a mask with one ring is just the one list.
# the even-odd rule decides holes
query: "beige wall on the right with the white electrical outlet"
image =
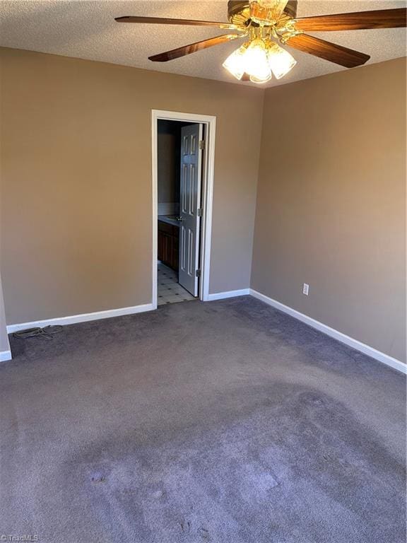
{"label": "beige wall on the right with the white electrical outlet", "polygon": [[252,288],[406,360],[405,59],[266,91],[254,240]]}

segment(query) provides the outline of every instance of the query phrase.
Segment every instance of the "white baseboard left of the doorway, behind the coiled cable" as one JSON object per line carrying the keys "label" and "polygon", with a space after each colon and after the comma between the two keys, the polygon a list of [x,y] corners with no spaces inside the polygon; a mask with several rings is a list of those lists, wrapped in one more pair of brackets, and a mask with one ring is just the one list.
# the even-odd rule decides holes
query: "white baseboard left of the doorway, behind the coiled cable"
{"label": "white baseboard left of the doorway, behind the coiled cable", "polygon": [[106,311],[95,311],[95,313],[82,313],[81,315],[71,315],[69,317],[57,317],[54,319],[35,320],[33,322],[22,322],[18,325],[8,325],[7,333],[12,334],[19,330],[34,327],[45,327],[54,325],[74,325],[76,322],[87,322],[88,320],[110,319],[111,317],[122,317],[122,315],[134,315],[135,313],[144,313],[155,309],[155,304],[145,303],[143,305],[133,305],[129,308],[110,309]]}

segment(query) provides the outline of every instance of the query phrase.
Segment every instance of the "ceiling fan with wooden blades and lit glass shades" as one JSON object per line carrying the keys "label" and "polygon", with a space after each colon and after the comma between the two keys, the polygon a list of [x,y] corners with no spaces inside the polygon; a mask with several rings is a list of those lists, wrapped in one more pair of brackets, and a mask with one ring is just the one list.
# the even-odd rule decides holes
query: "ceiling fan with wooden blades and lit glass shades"
{"label": "ceiling fan with wooden blades and lit glass shades", "polygon": [[148,58],[153,62],[167,62],[213,45],[237,38],[247,38],[241,47],[230,54],[223,66],[239,80],[266,83],[272,74],[279,79],[296,64],[292,55],[281,45],[288,45],[346,68],[365,64],[370,59],[369,55],[305,34],[305,31],[314,33],[329,30],[406,27],[407,9],[357,11],[305,18],[296,16],[297,0],[230,0],[228,23],[138,16],[117,17],[115,21],[214,26],[223,30],[234,30],[235,33],[211,37]]}

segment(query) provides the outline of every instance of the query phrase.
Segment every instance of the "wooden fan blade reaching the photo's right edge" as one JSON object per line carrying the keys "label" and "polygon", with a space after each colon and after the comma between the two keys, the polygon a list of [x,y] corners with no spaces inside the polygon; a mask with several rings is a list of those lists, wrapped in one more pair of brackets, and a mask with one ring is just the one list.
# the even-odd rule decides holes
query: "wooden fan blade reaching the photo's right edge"
{"label": "wooden fan blade reaching the photo's right edge", "polygon": [[307,32],[327,30],[363,30],[367,28],[400,28],[406,26],[407,9],[379,9],[356,11],[355,13],[335,13],[295,19],[295,28]]}

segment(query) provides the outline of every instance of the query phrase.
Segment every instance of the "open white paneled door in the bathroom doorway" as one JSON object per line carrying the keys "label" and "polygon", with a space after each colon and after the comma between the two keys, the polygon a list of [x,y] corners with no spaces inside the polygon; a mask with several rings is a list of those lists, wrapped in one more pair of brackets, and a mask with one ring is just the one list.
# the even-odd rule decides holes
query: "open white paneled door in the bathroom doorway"
{"label": "open white paneled door in the bathroom doorway", "polygon": [[179,284],[193,296],[199,285],[199,229],[203,124],[181,129],[181,184],[179,191]]}

